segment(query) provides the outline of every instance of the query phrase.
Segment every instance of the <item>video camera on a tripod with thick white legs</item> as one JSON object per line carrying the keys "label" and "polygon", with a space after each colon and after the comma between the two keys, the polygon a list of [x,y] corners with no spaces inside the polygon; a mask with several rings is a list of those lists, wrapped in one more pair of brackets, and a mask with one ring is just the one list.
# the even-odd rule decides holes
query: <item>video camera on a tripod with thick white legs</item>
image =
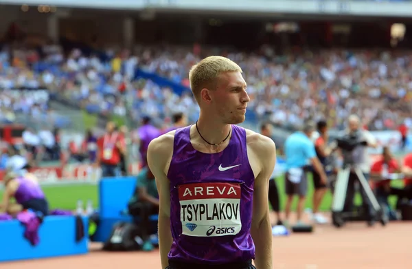
{"label": "video camera on a tripod with thick white legs", "polygon": [[385,225],[388,222],[385,214],[382,213],[382,209],[378,200],[376,200],[374,192],[371,190],[363,172],[358,167],[358,163],[361,161],[361,158],[363,158],[361,154],[363,154],[363,150],[365,150],[359,149],[361,149],[361,147],[367,147],[367,145],[367,141],[363,139],[361,131],[348,133],[341,138],[336,138],[334,141],[334,147],[341,149],[343,157],[343,167],[339,170],[336,177],[332,202],[332,222],[336,227],[343,226],[343,224],[345,224],[345,218],[350,217],[348,215],[352,214],[343,212],[350,173],[355,173],[356,177],[358,177],[358,181],[361,183],[360,186],[363,188],[363,191],[365,191],[367,199],[377,213],[376,217],[379,218],[381,224]]}

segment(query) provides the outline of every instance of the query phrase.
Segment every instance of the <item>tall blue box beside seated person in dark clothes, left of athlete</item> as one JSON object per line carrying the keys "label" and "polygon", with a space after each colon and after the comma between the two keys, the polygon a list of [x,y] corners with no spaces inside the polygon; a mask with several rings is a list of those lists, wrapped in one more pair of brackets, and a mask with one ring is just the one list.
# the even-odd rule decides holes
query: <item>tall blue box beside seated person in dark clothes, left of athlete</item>
{"label": "tall blue box beside seated person in dark clothes, left of athlete", "polygon": [[[124,215],[127,203],[136,187],[135,177],[106,177],[99,182],[99,226],[93,236],[93,241],[104,242],[111,234],[116,222],[138,222]],[[150,217],[152,222],[157,222],[157,215]]]}

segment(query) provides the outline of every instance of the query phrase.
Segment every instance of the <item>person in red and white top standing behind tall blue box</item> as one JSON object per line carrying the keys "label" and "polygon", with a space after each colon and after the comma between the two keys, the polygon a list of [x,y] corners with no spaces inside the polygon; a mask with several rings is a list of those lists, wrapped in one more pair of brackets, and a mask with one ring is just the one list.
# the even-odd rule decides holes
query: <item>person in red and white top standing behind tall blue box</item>
{"label": "person in red and white top standing behind tall blue box", "polygon": [[96,164],[102,169],[103,177],[120,175],[120,156],[126,152],[124,138],[115,131],[114,122],[107,122],[106,133],[98,139],[98,154]]}

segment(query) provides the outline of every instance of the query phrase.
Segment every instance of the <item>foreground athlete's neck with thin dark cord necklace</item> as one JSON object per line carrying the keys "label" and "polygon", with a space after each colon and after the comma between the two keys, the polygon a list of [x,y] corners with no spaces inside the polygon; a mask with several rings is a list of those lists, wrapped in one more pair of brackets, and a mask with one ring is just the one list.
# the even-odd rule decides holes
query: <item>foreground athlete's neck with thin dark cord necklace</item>
{"label": "foreground athlete's neck with thin dark cord necklace", "polygon": [[231,125],[216,122],[216,119],[205,118],[202,115],[198,119],[198,129],[203,138],[211,144],[219,144],[227,137]]}

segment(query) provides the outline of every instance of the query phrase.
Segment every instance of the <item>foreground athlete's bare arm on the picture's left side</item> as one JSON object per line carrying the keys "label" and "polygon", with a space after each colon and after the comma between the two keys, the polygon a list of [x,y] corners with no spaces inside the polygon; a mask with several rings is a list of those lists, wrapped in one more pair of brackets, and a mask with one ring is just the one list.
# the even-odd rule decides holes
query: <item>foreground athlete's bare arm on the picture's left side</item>
{"label": "foreground athlete's bare arm on the picture's left side", "polygon": [[159,249],[161,268],[169,266],[168,253],[172,246],[170,231],[170,183],[166,175],[173,152],[174,134],[166,133],[152,140],[148,147],[148,166],[156,178],[159,193]]}

